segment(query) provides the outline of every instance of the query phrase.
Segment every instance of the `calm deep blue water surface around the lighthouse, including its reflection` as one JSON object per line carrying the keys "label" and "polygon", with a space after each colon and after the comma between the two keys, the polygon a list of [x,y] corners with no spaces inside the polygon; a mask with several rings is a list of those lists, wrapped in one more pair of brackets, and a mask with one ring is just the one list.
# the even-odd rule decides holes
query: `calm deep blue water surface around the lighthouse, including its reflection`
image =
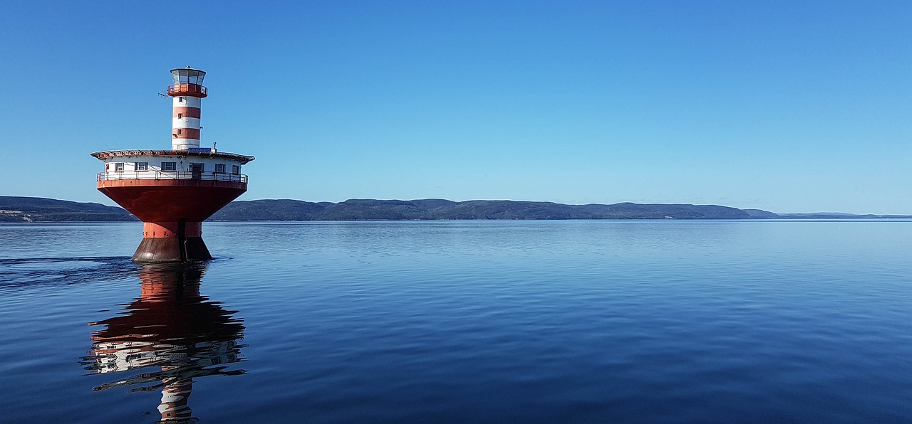
{"label": "calm deep blue water surface around the lighthouse, including its reflection", "polygon": [[0,421],[912,422],[909,221],[203,230],[0,226]]}

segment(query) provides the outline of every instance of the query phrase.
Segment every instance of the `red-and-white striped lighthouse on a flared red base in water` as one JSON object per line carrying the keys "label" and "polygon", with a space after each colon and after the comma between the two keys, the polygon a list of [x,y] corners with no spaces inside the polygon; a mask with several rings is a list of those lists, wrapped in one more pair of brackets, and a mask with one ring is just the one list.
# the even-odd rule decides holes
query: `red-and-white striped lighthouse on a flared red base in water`
{"label": "red-and-white striped lighthouse on a flared red base in water", "polygon": [[206,73],[171,69],[171,148],[92,153],[104,162],[98,190],[143,222],[135,261],[212,259],[202,221],[247,191],[242,167],[254,156],[200,146]]}

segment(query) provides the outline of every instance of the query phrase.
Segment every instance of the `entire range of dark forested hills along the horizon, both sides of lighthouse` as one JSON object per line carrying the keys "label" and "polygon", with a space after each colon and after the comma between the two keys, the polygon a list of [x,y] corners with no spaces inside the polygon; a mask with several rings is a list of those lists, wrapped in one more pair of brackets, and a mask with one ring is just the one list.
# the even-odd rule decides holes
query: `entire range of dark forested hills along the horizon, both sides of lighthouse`
{"label": "entire range of dark forested hills along the horizon, both sides of lighthouse", "polygon": [[[368,221],[451,219],[757,219],[757,218],[912,218],[902,215],[853,215],[837,212],[776,214],[761,209],[718,205],[617,203],[564,205],[553,202],[445,199],[306,202],[291,199],[237,200],[213,221]],[[133,221],[120,207],[44,197],[0,196],[0,222]]]}

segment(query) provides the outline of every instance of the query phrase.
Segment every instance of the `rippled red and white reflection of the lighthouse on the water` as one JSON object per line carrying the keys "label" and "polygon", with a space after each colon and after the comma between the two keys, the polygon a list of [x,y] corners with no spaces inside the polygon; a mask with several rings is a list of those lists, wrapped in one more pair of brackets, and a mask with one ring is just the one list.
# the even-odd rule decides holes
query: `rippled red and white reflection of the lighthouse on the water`
{"label": "rippled red and white reflection of the lighthouse on the water", "polygon": [[161,391],[158,422],[196,422],[194,379],[245,372],[231,369],[243,360],[243,321],[200,295],[205,270],[202,262],[140,265],[140,298],[117,317],[89,323],[98,329],[83,365],[119,377],[96,390]]}

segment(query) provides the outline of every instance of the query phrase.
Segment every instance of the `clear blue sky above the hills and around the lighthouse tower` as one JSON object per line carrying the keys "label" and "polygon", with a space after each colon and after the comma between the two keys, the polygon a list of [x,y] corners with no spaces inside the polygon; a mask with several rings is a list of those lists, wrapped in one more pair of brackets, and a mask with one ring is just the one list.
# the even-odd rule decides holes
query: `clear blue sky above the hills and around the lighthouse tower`
{"label": "clear blue sky above the hills and around the lighthouse tower", "polygon": [[0,195],[113,203],[171,68],[242,200],[912,214],[912,2],[3,2]]}

